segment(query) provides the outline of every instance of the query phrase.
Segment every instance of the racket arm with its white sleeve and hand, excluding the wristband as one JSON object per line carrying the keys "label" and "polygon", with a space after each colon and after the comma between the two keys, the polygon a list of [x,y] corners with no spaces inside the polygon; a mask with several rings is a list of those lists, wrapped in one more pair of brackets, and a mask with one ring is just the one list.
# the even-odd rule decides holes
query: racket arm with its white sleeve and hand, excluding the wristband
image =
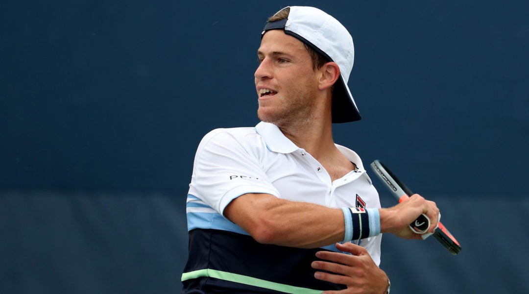
{"label": "racket arm with its white sleeve and hand, excluding the wristband", "polygon": [[[349,237],[351,220],[345,223],[342,209],[276,197],[279,192],[262,170],[259,154],[254,154],[256,151],[251,146],[243,144],[246,141],[237,138],[235,133],[222,129],[204,136],[197,149],[190,191],[207,195],[202,198],[206,204],[261,243],[312,248],[331,245],[344,241],[345,224]],[[260,194],[239,196],[239,191],[250,189]],[[411,232],[408,224],[425,212],[432,220],[433,229],[439,211],[432,214],[433,209],[428,209],[425,203],[424,198],[412,196],[395,209],[381,209],[377,212],[380,218],[376,218],[377,222],[380,220],[378,231],[420,238]]]}

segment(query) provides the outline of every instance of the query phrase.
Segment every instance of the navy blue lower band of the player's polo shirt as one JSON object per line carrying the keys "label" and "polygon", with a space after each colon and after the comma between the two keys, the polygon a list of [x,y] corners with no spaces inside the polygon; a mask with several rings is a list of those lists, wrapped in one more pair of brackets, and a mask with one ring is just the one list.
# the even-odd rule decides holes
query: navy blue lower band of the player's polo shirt
{"label": "navy blue lower band of the player's polo shirt", "polygon": [[255,284],[239,283],[208,275],[184,278],[188,273],[203,270],[244,275],[267,283],[284,284],[287,287],[318,289],[320,293],[323,290],[345,289],[343,284],[314,278],[316,270],[311,267],[311,263],[320,260],[316,258],[316,252],[322,250],[325,249],[261,244],[248,235],[217,229],[193,229],[189,231],[191,258],[188,259],[182,275],[184,284],[182,293],[306,293],[306,291],[272,291],[256,287]]}

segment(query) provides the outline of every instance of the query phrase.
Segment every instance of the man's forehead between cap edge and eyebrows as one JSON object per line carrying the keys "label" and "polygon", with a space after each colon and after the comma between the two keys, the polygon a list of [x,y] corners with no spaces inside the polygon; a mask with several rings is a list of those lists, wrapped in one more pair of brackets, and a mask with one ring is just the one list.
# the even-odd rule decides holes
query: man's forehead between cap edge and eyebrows
{"label": "man's forehead between cap edge and eyebrows", "polygon": [[283,30],[271,30],[263,35],[258,53],[285,52],[289,54],[300,54],[301,51],[308,54],[305,44],[302,41],[285,34]]}

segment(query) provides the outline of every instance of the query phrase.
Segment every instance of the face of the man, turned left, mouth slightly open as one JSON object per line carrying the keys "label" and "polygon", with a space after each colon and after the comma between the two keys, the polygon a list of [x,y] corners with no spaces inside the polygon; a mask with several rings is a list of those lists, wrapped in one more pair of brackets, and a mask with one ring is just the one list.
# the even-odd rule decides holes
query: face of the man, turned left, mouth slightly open
{"label": "face of the man, turned left, mouth slightly open", "polygon": [[282,30],[265,33],[254,76],[263,122],[278,126],[311,120],[318,93],[318,75],[304,44]]}

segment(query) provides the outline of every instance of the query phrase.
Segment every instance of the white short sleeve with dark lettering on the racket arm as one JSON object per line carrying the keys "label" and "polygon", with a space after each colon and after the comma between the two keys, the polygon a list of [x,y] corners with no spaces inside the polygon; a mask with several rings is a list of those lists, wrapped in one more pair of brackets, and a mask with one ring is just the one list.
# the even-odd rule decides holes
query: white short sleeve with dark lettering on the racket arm
{"label": "white short sleeve with dark lettering on the racket arm", "polygon": [[251,130],[217,129],[204,136],[198,146],[189,194],[221,215],[233,199],[247,193],[279,197],[260,164],[259,145],[264,149],[266,145]]}

